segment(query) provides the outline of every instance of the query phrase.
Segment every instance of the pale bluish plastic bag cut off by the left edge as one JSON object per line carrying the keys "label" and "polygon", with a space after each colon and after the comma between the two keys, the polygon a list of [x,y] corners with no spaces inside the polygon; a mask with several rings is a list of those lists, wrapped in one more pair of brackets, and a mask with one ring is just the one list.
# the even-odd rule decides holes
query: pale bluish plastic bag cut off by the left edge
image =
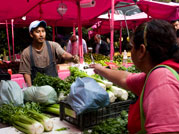
{"label": "pale bluish plastic bag cut off by the left edge", "polygon": [[24,95],[20,86],[15,81],[0,82],[0,105],[13,103],[14,105],[24,104]]}

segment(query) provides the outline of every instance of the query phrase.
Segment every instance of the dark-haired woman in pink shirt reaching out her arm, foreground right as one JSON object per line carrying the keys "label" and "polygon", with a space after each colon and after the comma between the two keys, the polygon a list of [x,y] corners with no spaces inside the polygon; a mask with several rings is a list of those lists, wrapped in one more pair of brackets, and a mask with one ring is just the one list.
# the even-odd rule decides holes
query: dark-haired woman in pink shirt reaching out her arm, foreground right
{"label": "dark-haired woman in pink shirt reaching out her arm, foreground right", "polygon": [[153,19],[139,25],[131,39],[132,60],[141,73],[90,65],[99,75],[138,96],[129,108],[130,134],[140,130],[142,134],[179,134],[179,46],[176,39],[170,23]]}

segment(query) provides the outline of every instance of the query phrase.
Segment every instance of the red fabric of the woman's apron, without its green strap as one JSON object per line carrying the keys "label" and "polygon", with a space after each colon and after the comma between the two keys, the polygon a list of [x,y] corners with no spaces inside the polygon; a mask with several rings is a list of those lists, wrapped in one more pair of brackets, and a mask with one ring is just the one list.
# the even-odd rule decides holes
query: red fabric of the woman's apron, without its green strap
{"label": "red fabric of the woman's apron, without its green strap", "polygon": [[[179,71],[178,63],[175,63],[173,60],[166,60],[160,65],[168,65],[171,68]],[[135,134],[141,130],[141,121],[140,121],[140,96],[134,104],[131,104],[128,112],[128,130],[129,134]]]}

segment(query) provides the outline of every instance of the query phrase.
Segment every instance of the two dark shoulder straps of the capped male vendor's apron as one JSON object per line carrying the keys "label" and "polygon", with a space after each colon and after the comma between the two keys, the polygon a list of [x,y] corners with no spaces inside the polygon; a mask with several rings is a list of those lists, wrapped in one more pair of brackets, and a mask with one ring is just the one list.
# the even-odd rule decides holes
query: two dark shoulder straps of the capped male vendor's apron
{"label": "two dark shoulder straps of the capped male vendor's apron", "polygon": [[[50,62],[49,64],[51,64],[53,62],[52,50],[50,47],[50,43],[48,41],[46,41],[46,45],[47,45],[47,50],[48,50],[48,55],[49,55],[49,62]],[[34,63],[34,58],[32,55],[32,45],[30,45],[30,62],[31,62],[31,67],[34,67],[35,63]]]}

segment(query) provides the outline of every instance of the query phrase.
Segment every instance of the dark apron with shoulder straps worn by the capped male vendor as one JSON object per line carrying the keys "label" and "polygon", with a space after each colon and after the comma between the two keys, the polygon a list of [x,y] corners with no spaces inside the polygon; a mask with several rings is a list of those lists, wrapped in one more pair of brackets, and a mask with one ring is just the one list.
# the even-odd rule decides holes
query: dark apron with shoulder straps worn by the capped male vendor
{"label": "dark apron with shoulder straps worn by the capped male vendor", "polygon": [[57,70],[56,70],[56,64],[53,62],[53,55],[52,50],[50,47],[50,44],[48,41],[46,41],[47,49],[48,49],[48,55],[49,55],[49,65],[45,68],[36,67],[34,63],[34,58],[32,55],[32,45],[30,46],[30,62],[31,62],[31,81],[33,83],[34,78],[36,77],[37,72],[46,74],[49,76],[57,77]]}

